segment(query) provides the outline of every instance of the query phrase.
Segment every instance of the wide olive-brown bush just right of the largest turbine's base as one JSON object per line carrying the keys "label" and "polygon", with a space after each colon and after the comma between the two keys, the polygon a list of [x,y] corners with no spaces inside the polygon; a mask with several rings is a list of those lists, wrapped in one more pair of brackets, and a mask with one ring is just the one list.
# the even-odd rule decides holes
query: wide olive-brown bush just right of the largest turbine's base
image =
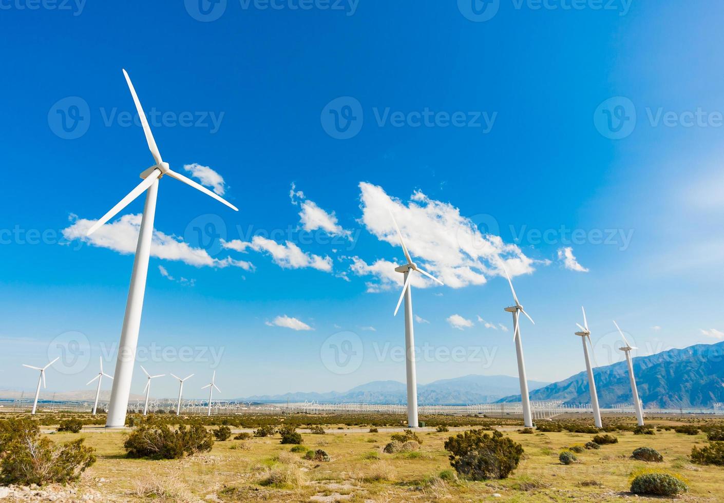
{"label": "wide olive-brown bush just right of the largest turbine's base", "polygon": [[196,452],[209,452],[214,436],[200,423],[180,425],[172,430],[167,424],[143,423],[132,431],[123,444],[127,457],[152,460],[175,460]]}

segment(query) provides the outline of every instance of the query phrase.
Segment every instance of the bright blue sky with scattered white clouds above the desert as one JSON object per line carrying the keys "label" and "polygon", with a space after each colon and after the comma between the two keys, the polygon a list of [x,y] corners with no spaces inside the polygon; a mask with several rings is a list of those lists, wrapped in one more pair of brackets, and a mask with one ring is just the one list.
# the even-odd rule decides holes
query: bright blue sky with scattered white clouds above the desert
{"label": "bright blue sky with scattered white clouds above the desert", "polygon": [[143,198],[78,236],[153,164],[122,68],[164,160],[240,208],[161,180],[139,345],[187,396],[403,381],[388,207],[447,284],[413,289],[422,383],[517,375],[498,257],[530,379],[583,370],[581,304],[599,364],[613,318],[639,355],[724,338],[724,7],[204,2],[4,4],[0,388],[113,368]]}

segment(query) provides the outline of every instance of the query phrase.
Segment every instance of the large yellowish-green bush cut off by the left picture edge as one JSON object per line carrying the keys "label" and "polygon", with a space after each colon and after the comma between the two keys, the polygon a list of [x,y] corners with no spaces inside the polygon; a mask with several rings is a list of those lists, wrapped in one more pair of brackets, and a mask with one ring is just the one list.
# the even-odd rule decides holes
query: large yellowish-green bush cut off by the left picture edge
{"label": "large yellowish-green bush cut off by the left picture edge", "polygon": [[0,421],[0,452],[2,483],[23,486],[77,481],[96,462],[94,449],[83,439],[55,444],[41,437],[38,423],[30,419]]}

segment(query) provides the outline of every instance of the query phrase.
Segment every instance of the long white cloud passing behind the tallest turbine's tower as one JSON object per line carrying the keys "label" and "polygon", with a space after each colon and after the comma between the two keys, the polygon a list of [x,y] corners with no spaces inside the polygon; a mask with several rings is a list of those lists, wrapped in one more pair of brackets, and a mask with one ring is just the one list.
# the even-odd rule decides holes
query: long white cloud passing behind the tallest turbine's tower
{"label": "long white cloud passing behind the tallest turbine's tower", "polygon": [[[90,236],[85,234],[96,223],[96,220],[77,219],[70,227],[63,229],[63,237],[69,241],[81,240],[88,245],[98,248],[108,248],[125,255],[135,253],[138,242],[141,215],[124,215],[116,221],[109,222],[93,232]],[[231,257],[213,258],[203,248],[193,248],[180,237],[164,234],[154,230],[151,238],[151,256],[167,261],[180,261],[195,267],[240,267],[245,271],[252,271],[254,266],[250,262],[237,261]]]}

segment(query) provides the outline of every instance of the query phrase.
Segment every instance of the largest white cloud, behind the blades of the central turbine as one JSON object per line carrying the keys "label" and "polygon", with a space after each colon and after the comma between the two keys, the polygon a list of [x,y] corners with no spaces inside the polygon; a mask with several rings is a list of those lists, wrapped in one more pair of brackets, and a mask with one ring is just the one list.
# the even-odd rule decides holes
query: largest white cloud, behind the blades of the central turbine
{"label": "largest white cloud, behind the blades of the central turbine", "polygon": [[[387,195],[378,185],[361,182],[359,187],[361,223],[366,229],[379,240],[397,247],[397,256],[403,261],[400,241],[390,219],[389,211],[392,211],[413,260],[449,287],[484,284],[486,276],[505,276],[501,263],[505,263],[511,276],[534,271],[534,261],[518,246],[505,244],[499,236],[481,233],[471,219],[461,216],[460,210],[450,203],[430,199],[419,191],[411,195],[408,203],[404,203]],[[373,266],[379,263],[382,261],[375,262]],[[353,271],[377,276],[379,286],[368,286],[368,291],[388,289],[390,276],[399,274],[360,269],[356,265],[353,263]],[[389,265],[388,262],[386,267]],[[416,286],[427,287],[432,283],[424,281]]]}

